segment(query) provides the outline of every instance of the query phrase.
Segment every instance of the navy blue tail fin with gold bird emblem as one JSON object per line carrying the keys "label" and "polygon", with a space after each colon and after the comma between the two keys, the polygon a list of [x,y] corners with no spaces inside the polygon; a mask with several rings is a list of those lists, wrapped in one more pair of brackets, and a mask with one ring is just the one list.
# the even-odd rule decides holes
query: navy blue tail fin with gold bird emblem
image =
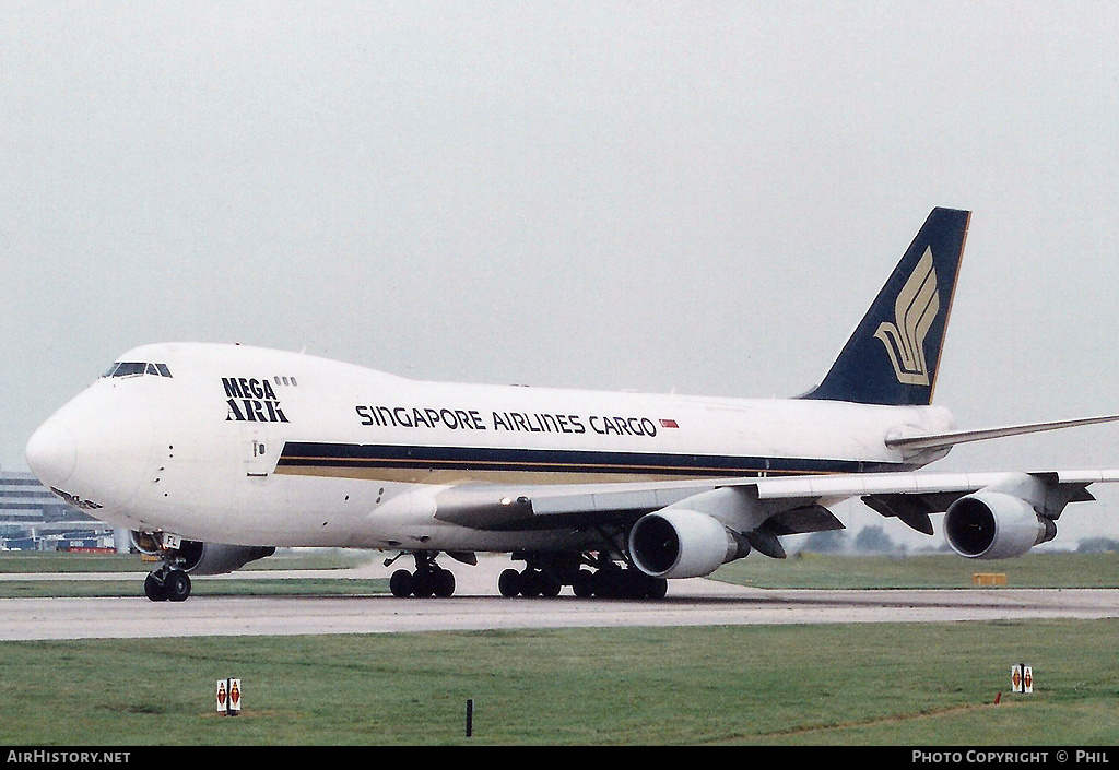
{"label": "navy blue tail fin with gold bird emblem", "polygon": [[801,398],[932,403],[970,212],[934,208],[824,382]]}

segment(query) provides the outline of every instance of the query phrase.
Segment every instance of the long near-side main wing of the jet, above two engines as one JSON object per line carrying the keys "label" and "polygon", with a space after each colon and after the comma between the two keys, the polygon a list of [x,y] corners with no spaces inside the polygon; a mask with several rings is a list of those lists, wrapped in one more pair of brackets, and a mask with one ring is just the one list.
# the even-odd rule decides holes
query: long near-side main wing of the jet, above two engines
{"label": "long near-side main wing of the jet, above two engines", "polygon": [[[435,518],[511,530],[630,524],[665,509],[709,515],[730,529],[770,536],[843,528],[827,506],[861,498],[884,516],[932,534],[929,514],[980,491],[1024,500],[1055,520],[1065,505],[1094,499],[1088,487],[1119,469],[1044,472],[894,472],[696,481],[501,487],[463,485],[435,495]],[[756,546],[755,546],[756,547]]]}

